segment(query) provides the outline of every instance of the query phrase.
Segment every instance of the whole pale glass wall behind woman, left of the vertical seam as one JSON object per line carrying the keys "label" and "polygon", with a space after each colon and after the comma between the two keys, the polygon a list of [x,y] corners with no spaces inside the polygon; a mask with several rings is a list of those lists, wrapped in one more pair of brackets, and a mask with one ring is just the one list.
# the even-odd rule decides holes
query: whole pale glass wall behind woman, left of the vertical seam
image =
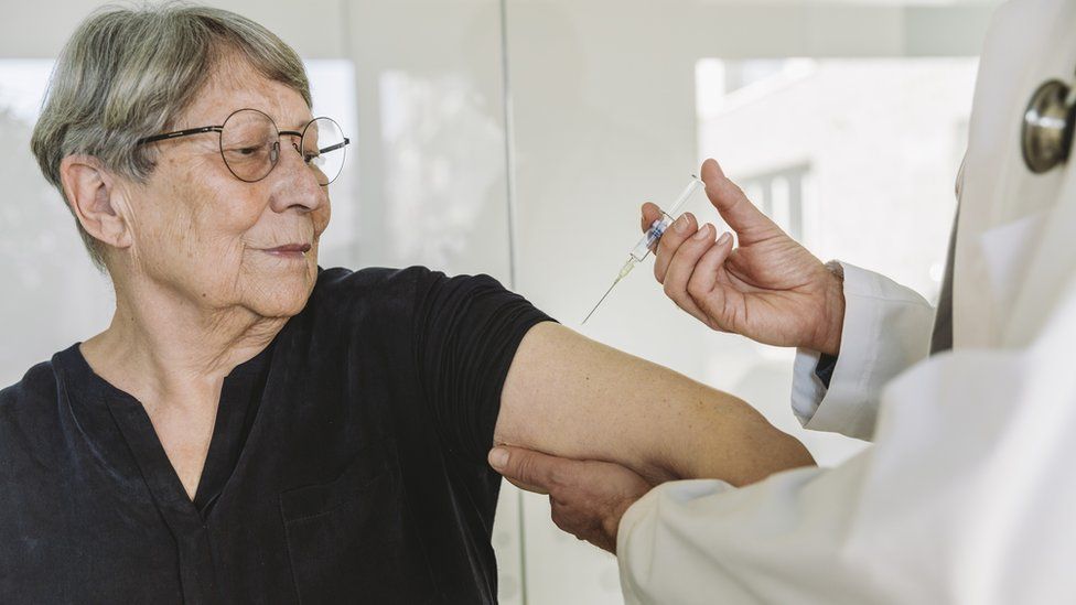
{"label": "whole pale glass wall behind woman, left of the vertical seam", "polygon": [[[53,61],[8,58],[54,56],[96,6],[68,4],[47,19],[42,9],[20,9],[0,23],[0,134],[19,150],[0,164],[8,193],[0,289],[19,292],[0,301],[0,386],[103,329],[112,310],[107,281],[26,152]],[[427,264],[510,285],[497,0],[214,4],[263,23],[312,57],[313,112],[334,118],[352,140],[331,185],[323,267]],[[311,26],[310,14],[334,26]],[[493,542],[506,605],[523,601],[518,528],[518,495],[505,484]]]}

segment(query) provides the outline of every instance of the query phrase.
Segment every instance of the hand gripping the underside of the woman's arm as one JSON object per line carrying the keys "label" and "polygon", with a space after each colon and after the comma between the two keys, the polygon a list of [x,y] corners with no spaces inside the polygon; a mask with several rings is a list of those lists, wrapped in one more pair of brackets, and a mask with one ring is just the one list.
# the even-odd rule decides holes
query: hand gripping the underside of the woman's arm
{"label": "hand gripping the underside of the woman's arm", "polygon": [[643,477],[607,462],[575,461],[501,445],[489,465],[514,485],[549,496],[557,527],[616,554],[616,531],[627,507],[650,490]]}

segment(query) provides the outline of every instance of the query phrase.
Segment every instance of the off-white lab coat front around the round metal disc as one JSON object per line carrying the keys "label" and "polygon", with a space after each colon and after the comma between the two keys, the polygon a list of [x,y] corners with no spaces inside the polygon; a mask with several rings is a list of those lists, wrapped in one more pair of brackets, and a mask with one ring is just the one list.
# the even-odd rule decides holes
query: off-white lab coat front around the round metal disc
{"label": "off-white lab coat front around the round metal disc", "polygon": [[[954,290],[957,347],[1015,343],[1029,327],[1024,316],[1053,300],[1042,298],[1047,285],[1037,283],[1046,277],[1037,267],[1047,253],[1042,230],[1051,238],[1076,236],[1057,233],[1076,224],[1053,216],[1063,212],[1055,202],[1067,169],[1034,175],[1020,148],[1034,90],[1051,78],[1070,80],[1076,71],[1076,3],[1025,0],[1000,10],[1011,14],[996,20],[998,31],[983,51],[982,64],[991,67],[979,74],[969,132]],[[1052,261],[1058,269],[1059,259]]]}

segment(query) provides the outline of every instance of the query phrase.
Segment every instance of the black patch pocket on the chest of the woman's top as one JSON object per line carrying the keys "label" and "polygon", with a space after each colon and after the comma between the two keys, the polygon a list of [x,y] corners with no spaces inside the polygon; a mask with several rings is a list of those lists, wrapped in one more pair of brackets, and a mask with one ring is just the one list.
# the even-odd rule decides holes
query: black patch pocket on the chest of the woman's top
{"label": "black patch pocket on the chest of the woman's top", "polygon": [[359,456],[335,480],[280,494],[300,603],[428,603],[433,575],[392,469]]}

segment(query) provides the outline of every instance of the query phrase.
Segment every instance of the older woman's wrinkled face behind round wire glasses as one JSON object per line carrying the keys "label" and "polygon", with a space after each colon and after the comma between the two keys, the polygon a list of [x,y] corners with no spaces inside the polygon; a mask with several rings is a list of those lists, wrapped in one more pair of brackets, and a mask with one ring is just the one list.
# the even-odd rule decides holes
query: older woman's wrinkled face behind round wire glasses
{"label": "older woman's wrinkled face behind round wire glasses", "polygon": [[[279,130],[301,131],[312,117],[299,93],[225,60],[172,129],[219,126],[243,108],[265,112]],[[200,307],[299,313],[318,277],[330,203],[290,139],[256,183],[232,174],[216,132],[153,143],[157,168],[129,201],[134,270]]]}

